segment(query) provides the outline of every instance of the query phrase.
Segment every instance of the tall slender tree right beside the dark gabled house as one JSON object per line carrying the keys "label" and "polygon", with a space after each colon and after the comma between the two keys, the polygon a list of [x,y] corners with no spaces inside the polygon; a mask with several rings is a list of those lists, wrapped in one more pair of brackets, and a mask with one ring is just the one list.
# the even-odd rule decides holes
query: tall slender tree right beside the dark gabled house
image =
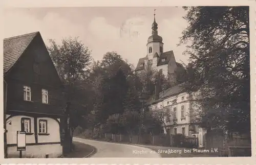
{"label": "tall slender tree right beside the dark gabled house", "polygon": [[69,115],[66,138],[69,142],[68,150],[71,150],[74,129],[82,121],[82,116],[88,112],[89,96],[86,95],[86,77],[88,66],[91,62],[91,52],[78,38],[62,39],[58,45],[50,39],[48,51],[60,77],[65,84],[65,101],[67,103],[66,114]]}

